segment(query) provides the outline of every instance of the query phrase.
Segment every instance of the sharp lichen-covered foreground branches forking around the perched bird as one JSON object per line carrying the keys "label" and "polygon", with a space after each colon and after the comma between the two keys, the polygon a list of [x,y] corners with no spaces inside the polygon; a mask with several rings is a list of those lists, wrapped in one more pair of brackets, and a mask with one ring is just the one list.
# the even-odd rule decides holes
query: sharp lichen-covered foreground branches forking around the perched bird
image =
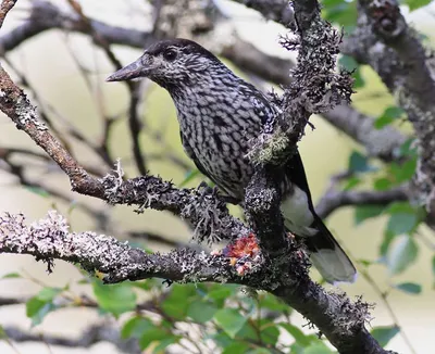
{"label": "sharp lichen-covered foreground branches forking around the perched bird", "polygon": [[[284,235],[278,179],[271,161],[276,157],[277,162],[284,162],[288,157],[312,113],[347,101],[351,92],[348,76],[335,73],[333,59],[338,52],[340,36],[321,20],[314,0],[298,1],[295,10],[299,40],[284,41],[289,49],[299,50],[295,81],[285,93],[282,121],[275,117],[276,121],[268,122],[270,126],[263,132],[266,137],[276,132],[276,128],[282,129],[285,153],[279,154],[283,150],[276,146],[269,149],[269,157],[258,163],[246,192],[248,219],[260,239],[261,253],[238,254],[234,266],[229,262],[236,255],[234,244],[221,255],[189,250],[147,254],[111,237],[89,231],[69,232],[65,219],[55,212],[32,226],[25,225],[22,215],[1,217],[0,252],[34,255],[45,261],[49,270],[53,258],[78,263],[88,271],[97,269],[105,274],[105,282],[160,277],[185,282],[246,285],[282,298],[318,326],[340,353],[386,353],[364,327],[369,306],[361,301],[352,303],[343,294],[326,292],[314,283],[308,276],[303,250]],[[171,211],[194,225],[199,240],[238,238],[236,242],[247,242],[249,239],[249,228],[231,216],[214,194],[176,189],[153,176],[123,181],[120,166],[102,179],[89,176],[38,121],[27,97],[4,71],[0,72],[0,87],[1,110],[60,165],[75,191],[113,204],[140,205],[139,212],[145,207]],[[272,217],[274,220],[268,220]]]}

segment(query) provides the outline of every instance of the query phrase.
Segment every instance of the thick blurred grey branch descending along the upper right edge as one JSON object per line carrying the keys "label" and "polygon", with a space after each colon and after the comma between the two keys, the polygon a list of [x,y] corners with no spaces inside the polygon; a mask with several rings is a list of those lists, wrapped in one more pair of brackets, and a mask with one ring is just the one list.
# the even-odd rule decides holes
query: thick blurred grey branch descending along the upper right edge
{"label": "thick blurred grey branch descending along the upper right edge", "polygon": [[370,64],[408,114],[420,144],[414,199],[435,218],[435,81],[417,33],[408,27],[395,0],[360,1],[358,28],[345,53]]}

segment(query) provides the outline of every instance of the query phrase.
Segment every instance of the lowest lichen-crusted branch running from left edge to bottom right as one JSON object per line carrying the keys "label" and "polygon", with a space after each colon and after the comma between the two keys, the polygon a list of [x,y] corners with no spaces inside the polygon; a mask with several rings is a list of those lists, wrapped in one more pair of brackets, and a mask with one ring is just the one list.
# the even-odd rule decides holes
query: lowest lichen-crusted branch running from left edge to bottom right
{"label": "lowest lichen-crusted branch running from left edge to bottom right", "polygon": [[107,282],[161,277],[246,285],[282,298],[315,324],[340,353],[387,353],[364,329],[368,305],[351,303],[345,295],[325,292],[312,282],[300,263],[300,251],[281,257],[272,268],[250,260],[256,271],[240,276],[223,255],[187,250],[147,254],[104,235],[71,233],[65,219],[55,212],[32,226],[24,222],[23,215],[0,218],[0,253],[30,254],[47,262],[49,269],[53,258],[78,263],[88,271],[107,274]]}

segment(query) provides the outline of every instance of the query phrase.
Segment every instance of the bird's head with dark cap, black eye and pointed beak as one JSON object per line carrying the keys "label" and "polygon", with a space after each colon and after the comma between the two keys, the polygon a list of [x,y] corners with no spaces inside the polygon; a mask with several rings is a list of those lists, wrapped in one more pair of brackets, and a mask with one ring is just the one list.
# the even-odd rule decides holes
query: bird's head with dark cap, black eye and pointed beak
{"label": "bird's head with dark cap, black eye and pointed beak", "polygon": [[222,63],[200,45],[187,39],[169,39],[156,42],[137,61],[119,69],[107,80],[148,77],[171,90],[204,79],[213,65],[220,66]]}

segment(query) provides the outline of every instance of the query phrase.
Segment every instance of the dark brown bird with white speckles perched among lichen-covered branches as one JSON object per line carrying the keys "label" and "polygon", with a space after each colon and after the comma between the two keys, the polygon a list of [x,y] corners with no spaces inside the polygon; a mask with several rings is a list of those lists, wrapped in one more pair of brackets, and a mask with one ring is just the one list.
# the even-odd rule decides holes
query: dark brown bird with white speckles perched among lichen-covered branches
{"label": "dark brown bird with white speckles perched among lichen-covered branches", "polygon": [[[247,159],[252,139],[281,114],[262,91],[199,43],[159,40],[107,81],[149,78],[170,93],[186,154],[232,200],[243,204],[253,174]],[[315,213],[298,151],[281,167],[281,211],[287,231],[302,240],[311,263],[330,283],[353,282],[357,270]]]}

